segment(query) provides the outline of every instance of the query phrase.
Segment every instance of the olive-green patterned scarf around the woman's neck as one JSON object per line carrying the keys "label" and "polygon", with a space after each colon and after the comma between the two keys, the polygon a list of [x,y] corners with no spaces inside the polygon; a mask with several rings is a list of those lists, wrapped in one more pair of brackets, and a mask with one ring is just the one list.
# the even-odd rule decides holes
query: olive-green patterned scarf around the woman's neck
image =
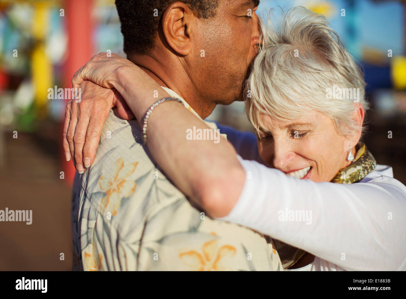
{"label": "olive-green patterned scarf around the woman's neck", "polygon": [[[365,144],[359,142],[356,147],[356,155],[354,162],[349,166],[341,168],[337,175],[331,180],[332,183],[352,184],[358,183],[368,173],[375,170],[376,160],[374,156],[367,150]],[[279,257],[281,258],[283,269],[293,266],[307,252],[283,243],[279,240],[273,240]]]}

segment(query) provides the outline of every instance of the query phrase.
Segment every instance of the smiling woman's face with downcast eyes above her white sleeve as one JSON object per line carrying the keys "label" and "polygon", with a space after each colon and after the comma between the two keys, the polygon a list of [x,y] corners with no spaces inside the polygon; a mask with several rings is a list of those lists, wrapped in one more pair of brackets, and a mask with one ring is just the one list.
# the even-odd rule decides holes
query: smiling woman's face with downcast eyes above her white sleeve
{"label": "smiling woman's face with downcast eyes above her white sleeve", "polygon": [[259,134],[259,155],[270,166],[315,182],[331,181],[348,166],[350,143],[328,116],[314,111],[300,120],[281,121],[265,114],[261,119],[265,128]]}

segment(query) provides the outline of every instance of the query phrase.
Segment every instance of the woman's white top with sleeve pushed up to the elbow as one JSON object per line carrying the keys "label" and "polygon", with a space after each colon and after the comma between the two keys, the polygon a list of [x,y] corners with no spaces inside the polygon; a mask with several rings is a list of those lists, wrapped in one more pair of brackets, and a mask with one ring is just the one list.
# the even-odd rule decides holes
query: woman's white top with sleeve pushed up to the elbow
{"label": "woman's white top with sleeve pushed up to the elbow", "polygon": [[406,187],[391,167],[377,165],[359,183],[345,185],[300,180],[238,159],[247,173],[244,187],[219,219],[315,255],[296,271],[406,270]]}

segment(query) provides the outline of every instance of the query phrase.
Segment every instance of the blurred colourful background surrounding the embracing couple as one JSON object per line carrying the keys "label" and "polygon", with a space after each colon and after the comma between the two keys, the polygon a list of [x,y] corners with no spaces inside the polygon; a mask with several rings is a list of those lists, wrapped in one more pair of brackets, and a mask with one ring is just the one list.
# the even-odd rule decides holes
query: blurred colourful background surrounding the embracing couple
{"label": "blurred colourful background surrounding the embracing couple", "polygon": [[[361,63],[372,104],[365,142],[406,183],[406,1],[261,0],[257,12],[296,5],[324,14]],[[0,222],[0,270],[71,270],[75,170],[61,146],[65,100],[48,89],[71,87],[98,52],[125,57],[122,46],[113,0],[0,0],[0,209],[33,214],[31,225]],[[208,119],[252,131],[242,102]]]}

